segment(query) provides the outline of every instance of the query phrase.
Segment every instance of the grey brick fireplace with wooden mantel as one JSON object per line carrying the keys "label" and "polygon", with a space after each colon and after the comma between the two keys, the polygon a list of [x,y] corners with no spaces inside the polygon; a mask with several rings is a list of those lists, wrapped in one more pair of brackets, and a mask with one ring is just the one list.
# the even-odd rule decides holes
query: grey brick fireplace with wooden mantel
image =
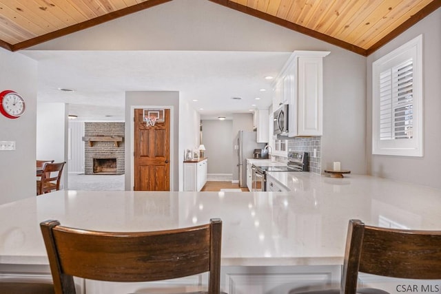
{"label": "grey brick fireplace with wooden mantel", "polygon": [[124,174],[124,123],[84,123],[84,173]]}

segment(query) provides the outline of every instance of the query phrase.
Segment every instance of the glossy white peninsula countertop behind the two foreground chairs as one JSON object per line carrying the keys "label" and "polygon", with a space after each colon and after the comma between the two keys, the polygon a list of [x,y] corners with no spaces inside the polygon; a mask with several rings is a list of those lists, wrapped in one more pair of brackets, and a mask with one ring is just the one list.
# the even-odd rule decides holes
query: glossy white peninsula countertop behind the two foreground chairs
{"label": "glossy white peninsula countertop behind the two foreground chairs", "polygon": [[221,218],[224,266],[342,264],[351,218],[441,229],[440,189],[370,176],[289,174],[286,193],[57,191],[3,204],[0,266],[48,264],[39,229],[48,219],[83,229],[149,231]]}

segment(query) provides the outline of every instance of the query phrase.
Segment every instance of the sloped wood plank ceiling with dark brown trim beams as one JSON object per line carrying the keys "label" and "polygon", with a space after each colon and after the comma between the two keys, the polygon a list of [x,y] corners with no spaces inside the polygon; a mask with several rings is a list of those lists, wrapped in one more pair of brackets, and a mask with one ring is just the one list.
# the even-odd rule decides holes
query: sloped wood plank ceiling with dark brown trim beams
{"label": "sloped wood plank ceiling with dark brown trim beams", "polygon": [[[0,46],[21,50],[168,1],[1,0]],[[209,1],[364,56],[441,6],[441,0]]]}

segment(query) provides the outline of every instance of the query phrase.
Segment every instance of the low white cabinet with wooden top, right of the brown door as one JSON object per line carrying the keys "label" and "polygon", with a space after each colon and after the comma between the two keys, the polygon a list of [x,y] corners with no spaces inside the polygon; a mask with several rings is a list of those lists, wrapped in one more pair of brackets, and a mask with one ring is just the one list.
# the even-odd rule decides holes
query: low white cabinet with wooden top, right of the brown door
{"label": "low white cabinet with wooden top, right of the brown door", "polygon": [[207,182],[208,159],[184,162],[184,191],[201,191]]}

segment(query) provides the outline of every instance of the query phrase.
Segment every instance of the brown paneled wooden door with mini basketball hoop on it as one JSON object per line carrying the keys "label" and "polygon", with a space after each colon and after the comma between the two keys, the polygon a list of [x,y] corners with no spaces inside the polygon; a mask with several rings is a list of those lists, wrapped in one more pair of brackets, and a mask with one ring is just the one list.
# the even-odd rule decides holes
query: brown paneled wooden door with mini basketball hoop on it
{"label": "brown paneled wooden door with mini basketball hoop on it", "polygon": [[134,109],[134,126],[134,190],[170,191],[170,109],[153,127]]}

